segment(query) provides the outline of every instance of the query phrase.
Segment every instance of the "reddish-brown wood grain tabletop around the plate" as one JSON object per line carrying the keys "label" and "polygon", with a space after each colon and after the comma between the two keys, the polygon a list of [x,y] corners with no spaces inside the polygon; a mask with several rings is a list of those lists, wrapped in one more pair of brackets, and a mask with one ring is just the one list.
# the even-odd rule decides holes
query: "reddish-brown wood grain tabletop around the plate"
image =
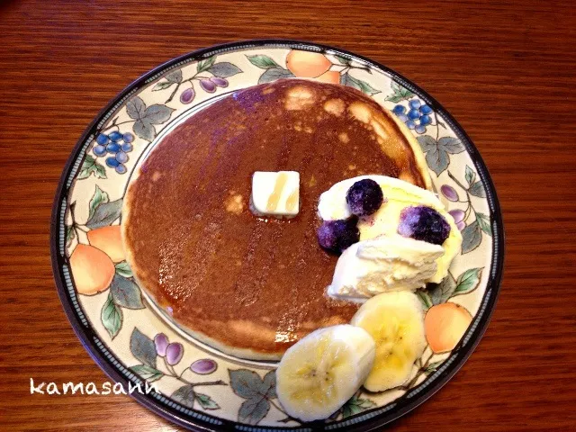
{"label": "reddish-brown wood grain tabletop around the plate", "polygon": [[125,85],[215,43],[292,38],[392,67],[462,123],[497,186],[506,268],[464,368],[393,430],[576,430],[576,14],[570,1],[0,4],[0,429],[178,430],[103,383],[58,301],[50,206],[76,139]]}

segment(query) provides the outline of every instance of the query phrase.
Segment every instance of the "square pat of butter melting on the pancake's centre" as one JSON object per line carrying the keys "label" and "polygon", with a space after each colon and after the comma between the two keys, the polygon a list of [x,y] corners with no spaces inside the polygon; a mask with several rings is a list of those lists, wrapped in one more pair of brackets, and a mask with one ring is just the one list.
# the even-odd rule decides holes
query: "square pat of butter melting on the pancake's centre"
{"label": "square pat of butter melting on the pancake's centre", "polygon": [[300,174],[296,171],[255,172],[250,209],[258,216],[296,216],[300,211]]}

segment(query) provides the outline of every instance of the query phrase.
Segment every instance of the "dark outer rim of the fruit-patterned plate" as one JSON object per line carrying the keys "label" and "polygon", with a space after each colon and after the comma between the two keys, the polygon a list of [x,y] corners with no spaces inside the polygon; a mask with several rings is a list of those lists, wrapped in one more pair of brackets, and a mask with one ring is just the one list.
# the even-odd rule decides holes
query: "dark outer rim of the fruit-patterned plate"
{"label": "dark outer rim of the fruit-patterned plate", "polygon": [[[496,302],[498,301],[498,297],[500,294],[500,284],[503,275],[503,268],[504,268],[504,255],[505,255],[505,233],[503,227],[503,220],[502,220],[502,213],[500,210],[500,202],[498,199],[498,195],[496,193],[496,188],[494,183],[491,179],[491,175],[489,173],[488,167],[485,165],[480,152],[473,144],[473,140],[470,139],[464,128],[455,120],[450,112],[448,112],[442,104],[438,103],[437,100],[432,97],[428,92],[422,89],[419,85],[414,84],[412,81],[407,79],[406,77],[402,76],[401,74],[397,73],[396,71],[392,70],[390,67],[383,66],[381,63],[374,61],[371,58],[366,58],[365,56],[358,55],[354,52],[348,51],[347,49],[340,49],[330,45],[325,45],[321,43],[316,43],[308,40],[291,40],[291,39],[254,39],[254,40],[238,40],[234,42],[227,42],[221,44],[215,44],[210,47],[202,48],[202,49],[195,49],[191,52],[184,53],[181,56],[176,58],[172,58],[167,60],[166,62],[158,65],[150,69],[147,73],[139,76],[137,79],[130,82],[129,85],[125,86],[118,94],[112,97],[112,99],[107,103],[103,109],[101,109],[97,114],[94,116],[94,119],[88,124],[85,128],[84,132],[80,135],[80,138],[76,141],[76,145],[70,152],[70,155],[67,157],[67,162],[64,166],[62,174],[60,175],[58,186],[56,188],[54,202],[52,203],[52,212],[50,218],[50,260],[52,264],[52,274],[54,276],[54,282],[56,284],[56,288],[58,291],[58,297],[62,304],[62,307],[67,315],[67,320],[70,322],[72,329],[76,333],[76,337],[80,339],[83,347],[87,351],[88,355],[92,357],[96,365],[98,365],[109,378],[111,378],[115,383],[121,383],[124,388],[128,387],[128,380],[125,376],[121,374],[121,372],[116,369],[110,361],[103,356],[103,353],[95,347],[94,344],[94,336],[96,338],[97,335],[94,332],[94,329],[91,327],[83,326],[76,316],[76,312],[73,309],[73,305],[71,304],[69,297],[67,297],[67,288],[64,284],[64,275],[61,272],[61,266],[58,263],[59,253],[58,253],[58,220],[60,216],[60,203],[62,202],[62,198],[67,195],[68,189],[66,187],[67,179],[70,175],[70,171],[76,162],[78,153],[82,150],[82,147],[85,144],[85,139],[93,133],[94,127],[99,121],[102,121],[103,116],[106,112],[109,112],[113,105],[118,103],[122,98],[126,97],[130,94],[134,89],[138,88],[141,85],[146,84],[146,81],[153,76],[156,76],[158,73],[165,71],[169,67],[174,67],[177,63],[184,61],[184,60],[193,60],[196,58],[202,58],[207,53],[211,53],[214,51],[226,51],[232,49],[242,49],[242,48],[262,48],[266,45],[270,45],[271,48],[274,46],[283,46],[283,48],[289,49],[315,49],[315,50],[333,50],[339,53],[346,54],[347,56],[351,56],[353,58],[358,58],[365,61],[368,64],[374,65],[375,67],[379,67],[384,72],[389,74],[392,79],[396,82],[399,82],[406,88],[413,90],[415,94],[418,94],[419,97],[425,99],[427,103],[433,106],[434,110],[442,115],[443,120],[445,120],[448,125],[455,131],[456,136],[460,138],[464,144],[464,148],[466,149],[467,153],[470,155],[470,158],[473,161],[474,166],[478,171],[478,175],[482,178],[482,183],[485,186],[486,190],[486,201],[491,210],[491,228],[493,232],[492,238],[492,251],[491,251],[491,274],[489,275],[489,279],[486,285],[486,291],[483,295],[483,298],[486,298],[487,295],[491,295],[488,302],[486,302],[485,311],[479,320],[478,325],[475,329],[468,335],[468,345],[467,347],[462,347],[462,349],[455,349],[458,350],[456,356],[454,357],[454,361],[452,365],[449,365],[446,370],[441,374],[442,376],[438,376],[434,382],[428,385],[428,388],[421,392],[419,391],[422,384],[419,386],[414,387],[411,389],[410,392],[404,393],[399,399],[392,402],[392,404],[397,405],[401,402],[403,406],[401,406],[398,410],[388,410],[386,412],[382,412],[377,414],[372,419],[367,419],[363,423],[356,423],[355,425],[347,426],[346,430],[354,430],[354,431],[369,431],[374,430],[376,428],[381,428],[386,424],[391,423],[392,421],[401,418],[411,410],[414,410],[419,405],[428,401],[430,397],[432,397],[436,392],[438,392],[450,379],[462,368],[466,360],[472,355],[474,349],[480,343],[488,325],[491,321],[492,314],[494,313]],[[70,186],[71,187],[71,186]],[[415,392],[417,391],[417,392]],[[410,396],[410,395],[413,395]],[[191,430],[198,430],[198,431],[218,431],[218,430],[238,430],[235,428],[235,425],[242,425],[242,423],[238,423],[233,420],[227,419],[220,419],[222,424],[222,428],[211,428],[211,423],[208,421],[202,421],[199,419],[192,419],[189,416],[185,416],[184,413],[179,412],[175,409],[169,409],[168,407],[162,406],[158,401],[153,400],[152,398],[148,397],[145,394],[134,392],[130,395],[133,399],[138,401],[141,405],[145,406],[148,410],[151,410],[158,414],[159,416],[167,419],[168,421],[174,422],[175,424],[182,426],[184,428],[188,428]],[[382,409],[383,407],[379,407]],[[211,417],[210,415],[208,417]],[[216,417],[217,416],[213,416]],[[314,428],[313,424],[307,424],[304,427]],[[320,425],[319,425],[320,426]],[[287,428],[278,428],[278,427],[262,427],[266,428],[266,430],[292,430],[298,429],[302,427],[287,427]]]}

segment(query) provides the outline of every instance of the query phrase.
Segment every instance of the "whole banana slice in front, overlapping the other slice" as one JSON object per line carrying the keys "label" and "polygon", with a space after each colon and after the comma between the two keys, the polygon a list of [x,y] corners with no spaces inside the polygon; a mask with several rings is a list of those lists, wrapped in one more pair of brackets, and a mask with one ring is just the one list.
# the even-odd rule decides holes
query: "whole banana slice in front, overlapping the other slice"
{"label": "whole banana slice in front, overlapping the other slice", "polygon": [[290,347],[276,370],[276,392],[296,419],[327,419],[365,382],[374,339],[349,324],[313,331]]}

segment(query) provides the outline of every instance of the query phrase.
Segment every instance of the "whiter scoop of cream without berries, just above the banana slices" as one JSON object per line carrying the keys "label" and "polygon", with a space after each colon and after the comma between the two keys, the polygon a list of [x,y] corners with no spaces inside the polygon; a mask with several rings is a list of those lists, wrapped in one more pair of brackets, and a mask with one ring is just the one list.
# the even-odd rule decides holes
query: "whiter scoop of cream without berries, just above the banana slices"
{"label": "whiter scoop of cream without berries, just above the banana slices", "polygon": [[364,301],[389,291],[416,290],[437,273],[444,247],[398,234],[361,240],[338,258],[328,293]]}

